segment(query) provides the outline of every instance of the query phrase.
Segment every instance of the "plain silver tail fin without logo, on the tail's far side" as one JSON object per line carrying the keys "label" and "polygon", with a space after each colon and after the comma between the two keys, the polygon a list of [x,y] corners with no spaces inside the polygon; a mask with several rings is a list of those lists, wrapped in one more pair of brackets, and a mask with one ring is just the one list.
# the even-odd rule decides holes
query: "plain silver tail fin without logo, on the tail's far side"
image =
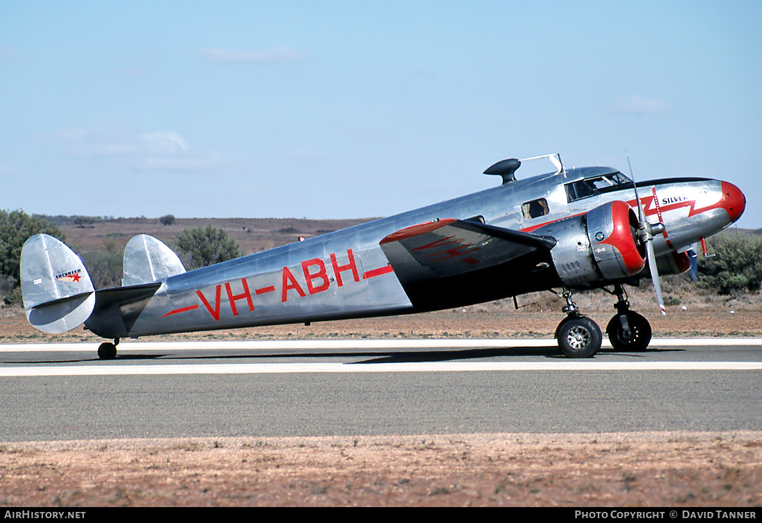
{"label": "plain silver tail fin without logo, on the tail's far side", "polygon": [[185,272],[183,263],[162,241],[139,234],[124,248],[122,285],[158,282]]}

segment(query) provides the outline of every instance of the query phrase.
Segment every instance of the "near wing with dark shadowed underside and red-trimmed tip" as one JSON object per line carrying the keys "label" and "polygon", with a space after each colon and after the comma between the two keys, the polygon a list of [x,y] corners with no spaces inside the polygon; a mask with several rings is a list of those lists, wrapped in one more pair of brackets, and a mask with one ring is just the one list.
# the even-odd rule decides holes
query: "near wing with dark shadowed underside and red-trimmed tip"
{"label": "near wing with dark shadowed underside and red-trimmed tip", "polygon": [[536,281],[547,284],[555,243],[549,236],[450,218],[396,231],[380,245],[413,305],[430,309],[523,294]]}

